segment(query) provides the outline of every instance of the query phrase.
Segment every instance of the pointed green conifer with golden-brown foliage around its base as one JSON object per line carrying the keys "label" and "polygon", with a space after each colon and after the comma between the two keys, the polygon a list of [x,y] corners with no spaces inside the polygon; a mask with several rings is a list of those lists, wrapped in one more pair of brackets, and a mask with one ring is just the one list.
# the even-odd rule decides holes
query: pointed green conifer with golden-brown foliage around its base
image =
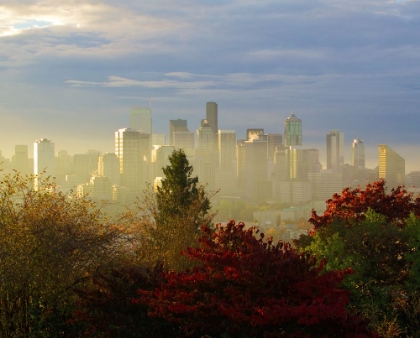
{"label": "pointed green conifer with golden-brown foliage around its base", "polygon": [[169,161],[162,186],[156,192],[145,191],[132,222],[139,231],[143,262],[150,266],[162,262],[165,269],[182,270],[191,262],[179,253],[195,245],[200,227],[210,225],[214,214],[209,212],[211,194],[192,177],[193,168],[183,150],[174,151]]}

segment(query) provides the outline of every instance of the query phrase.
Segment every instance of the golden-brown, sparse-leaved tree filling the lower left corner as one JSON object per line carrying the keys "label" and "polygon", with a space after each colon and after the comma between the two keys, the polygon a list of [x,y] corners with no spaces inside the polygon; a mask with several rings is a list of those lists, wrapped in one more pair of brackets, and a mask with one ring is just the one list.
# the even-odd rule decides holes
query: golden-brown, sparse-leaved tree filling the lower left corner
{"label": "golden-brown, sparse-leaved tree filling the lower left corner", "polygon": [[123,234],[90,200],[19,173],[0,182],[0,336],[58,337],[73,288],[111,257]]}

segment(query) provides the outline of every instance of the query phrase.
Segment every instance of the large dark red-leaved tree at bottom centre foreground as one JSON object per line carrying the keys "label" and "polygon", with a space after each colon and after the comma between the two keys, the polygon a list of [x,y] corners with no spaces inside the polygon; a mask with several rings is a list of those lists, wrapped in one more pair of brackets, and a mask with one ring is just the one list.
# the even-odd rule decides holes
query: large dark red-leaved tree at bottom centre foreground
{"label": "large dark red-leaved tree at bottom centre foreground", "polygon": [[165,273],[157,289],[138,291],[135,302],[147,304],[149,316],[180,326],[185,336],[373,336],[338,288],[351,271],[320,274],[314,257],[263,234],[257,239],[258,230],[244,223],[202,229],[201,247],[183,253],[200,266]]}

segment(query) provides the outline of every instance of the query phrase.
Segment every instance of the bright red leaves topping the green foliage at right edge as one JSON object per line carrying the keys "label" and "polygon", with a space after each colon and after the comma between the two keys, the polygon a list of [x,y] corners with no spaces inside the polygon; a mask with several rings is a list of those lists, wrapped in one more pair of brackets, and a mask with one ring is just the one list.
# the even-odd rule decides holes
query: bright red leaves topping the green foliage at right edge
{"label": "bright red leaves topping the green foliage at right edge", "polygon": [[341,194],[334,194],[326,202],[327,209],[323,215],[319,216],[312,210],[309,222],[315,229],[329,224],[333,219],[344,219],[349,225],[352,220],[364,219],[369,208],[396,225],[403,225],[411,212],[420,216],[420,198],[414,198],[413,194],[400,186],[387,193],[383,179],[368,184],[365,190],[345,188]]}

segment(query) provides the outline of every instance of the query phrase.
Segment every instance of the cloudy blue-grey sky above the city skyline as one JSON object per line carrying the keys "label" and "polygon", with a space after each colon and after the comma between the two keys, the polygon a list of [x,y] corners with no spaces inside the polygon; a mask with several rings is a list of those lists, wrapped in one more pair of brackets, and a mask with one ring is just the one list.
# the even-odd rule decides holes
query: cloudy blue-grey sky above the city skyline
{"label": "cloudy blue-grey sky above the city skyline", "polygon": [[283,133],[303,147],[353,139],[367,164],[387,144],[420,170],[420,0],[3,0],[0,150],[53,140],[56,151],[114,151],[132,106],[195,131],[205,104],[219,128]]}

